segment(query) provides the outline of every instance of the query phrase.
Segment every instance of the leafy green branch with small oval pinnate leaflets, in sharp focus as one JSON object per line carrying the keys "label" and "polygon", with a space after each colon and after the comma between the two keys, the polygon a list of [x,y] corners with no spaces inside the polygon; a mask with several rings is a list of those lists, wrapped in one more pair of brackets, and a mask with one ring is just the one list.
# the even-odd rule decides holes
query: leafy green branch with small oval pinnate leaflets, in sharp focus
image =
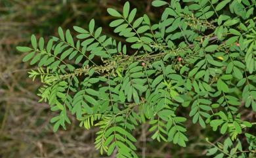
{"label": "leafy green branch with small oval pinnate leaflets, in sharp focus", "polygon": [[66,128],[70,112],[80,126],[100,128],[95,139],[100,153],[112,155],[116,149],[117,157],[137,157],[131,133],[142,123],[150,125],[152,139],[185,147],[187,115],[180,109],[186,108],[192,123],[228,136],[207,155],[255,155],[255,136],[245,134],[245,152],[238,135],[255,125],[240,111],[256,111],[256,1],[156,0],[152,5],[166,7],[158,24],[146,14],[138,18],[128,2],[123,12],[107,10],[115,18],[110,27],[129,51],[103,35],[95,20],[89,30],[74,26],[76,38],[59,28],[59,37],[46,47],[34,35],[32,48],[17,47],[28,52],[24,62],[37,64],[30,77],[41,78],[40,101],[59,113],[51,120],[54,131]]}

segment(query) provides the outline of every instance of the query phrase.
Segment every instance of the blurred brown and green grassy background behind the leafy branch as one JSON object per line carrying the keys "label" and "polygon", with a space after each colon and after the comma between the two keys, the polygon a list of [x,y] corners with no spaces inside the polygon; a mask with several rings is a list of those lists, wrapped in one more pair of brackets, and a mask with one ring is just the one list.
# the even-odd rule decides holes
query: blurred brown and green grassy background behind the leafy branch
{"label": "blurred brown and green grassy background behind the leafy branch", "polygon": [[[138,16],[146,13],[153,22],[158,22],[162,10],[152,9],[151,2],[130,1],[132,7],[139,10]],[[0,0],[1,158],[104,157],[94,148],[96,128],[79,128],[73,120],[68,130],[53,132],[49,120],[54,113],[47,104],[37,102],[39,81],[28,78],[31,67],[22,63],[26,54],[16,51],[15,47],[30,45],[32,34],[45,39],[56,35],[58,26],[65,30],[72,30],[72,26],[87,28],[91,18],[104,28],[105,34],[115,37],[108,26],[112,19],[106,9],[113,7],[121,11],[123,3],[123,0]],[[139,140],[138,153],[141,157],[204,157],[208,145],[197,126],[187,125],[191,140],[187,148],[153,142],[148,127],[138,127],[135,133]]]}

